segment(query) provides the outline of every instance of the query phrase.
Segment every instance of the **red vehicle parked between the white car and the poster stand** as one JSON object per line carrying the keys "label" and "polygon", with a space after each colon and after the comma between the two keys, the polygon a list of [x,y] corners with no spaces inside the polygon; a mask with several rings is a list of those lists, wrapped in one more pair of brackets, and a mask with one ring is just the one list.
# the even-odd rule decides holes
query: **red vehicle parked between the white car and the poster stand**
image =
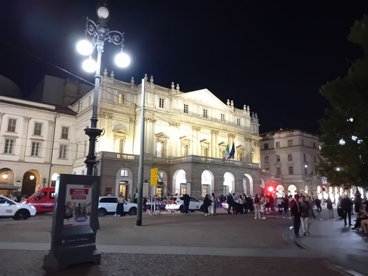
{"label": "red vehicle parked between the white car and the poster stand", "polygon": [[23,204],[35,206],[37,213],[54,211],[55,187],[41,188],[36,193],[21,201]]}

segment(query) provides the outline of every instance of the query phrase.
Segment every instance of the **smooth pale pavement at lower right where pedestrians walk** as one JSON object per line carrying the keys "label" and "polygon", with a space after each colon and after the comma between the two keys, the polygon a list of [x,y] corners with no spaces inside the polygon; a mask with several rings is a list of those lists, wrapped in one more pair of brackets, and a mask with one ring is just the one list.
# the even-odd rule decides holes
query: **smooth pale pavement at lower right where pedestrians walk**
{"label": "smooth pale pavement at lower right where pedestrians walk", "polygon": [[[327,209],[323,209],[320,216],[313,220],[309,232],[310,236],[294,238],[294,242],[301,247],[315,250],[323,255],[330,256],[338,266],[350,268],[362,275],[368,275],[367,235],[351,230],[353,226],[344,226],[344,220],[338,219],[334,210],[335,219],[327,220]],[[356,215],[351,216],[354,225]],[[302,227],[300,226],[302,235]]]}

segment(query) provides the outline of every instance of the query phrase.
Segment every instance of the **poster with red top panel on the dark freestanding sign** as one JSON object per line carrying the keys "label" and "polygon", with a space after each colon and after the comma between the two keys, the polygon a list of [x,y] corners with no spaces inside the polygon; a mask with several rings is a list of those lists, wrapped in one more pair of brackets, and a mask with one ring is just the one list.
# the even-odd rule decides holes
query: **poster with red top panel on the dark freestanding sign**
{"label": "poster with red top panel on the dark freestanding sign", "polygon": [[67,185],[64,226],[90,224],[92,185]]}

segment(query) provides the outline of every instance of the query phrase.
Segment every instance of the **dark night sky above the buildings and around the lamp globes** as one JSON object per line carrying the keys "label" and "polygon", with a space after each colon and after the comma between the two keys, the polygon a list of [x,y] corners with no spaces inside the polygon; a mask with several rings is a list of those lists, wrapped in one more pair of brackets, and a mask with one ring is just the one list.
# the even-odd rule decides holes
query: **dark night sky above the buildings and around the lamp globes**
{"label": "dark night sky above the buildings and around the lamp globes", "polygon": [[[133,76],[137,83],[147,73],[160,86],[175,81],[183,92],[208,88],[237,108],[246,103],[258,112],[260,132],[280,124],[318,132],[327,107],[320,86],[345,75],[361,56],[346,37],[368,3],[344,2],[111,0],[108,28],[125,32],[132,63],[117,68],[119,48],[107,45],[102,68],[123,81]],[[84,57],[75,43],[84,37],[86,17],[97,19],[96,5],[2,1],[1,75],[17,83],[24,97],[43,75],[75,79],[35,55],[93,81],[81,69]]]}

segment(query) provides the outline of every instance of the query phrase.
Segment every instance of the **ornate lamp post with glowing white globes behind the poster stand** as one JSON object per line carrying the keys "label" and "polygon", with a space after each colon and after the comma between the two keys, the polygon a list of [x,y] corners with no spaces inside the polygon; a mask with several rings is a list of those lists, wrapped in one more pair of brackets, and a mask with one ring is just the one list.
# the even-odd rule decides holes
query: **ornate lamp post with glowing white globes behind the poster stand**
{"label": "ornate lamp post with glowing white globes behind the poster stand", "polygon": [[[81,55],[89,56],[89,58],[82,64],[84,70],[87,72],[95,72],[95,89],[93,95],[92,117],[90,118],[90,128],[84,129],[84,132],[86,132],[90,141],[88,155],[84,161],[87,167],[87,175],[93,175],[93,168],[98,164],[95,156],[95,144],[96,139],[101,135],[102,130],[97,128],[97,108],[99,99],[99,81],[101,79],[101,56],[102,52],[104,52],[105,41],[122,47],[119,54],[115,57],[115,63],[117,63],[117,66],[126,67],[130,63],[130,58],[123,52],[124,32],[118,32],[116,30],[109,30],[106,28],[106,23],[110,17],[110,10],[108,10],[108,3],[106,0],[99,1],[96,13],[98,17],[97,23],[87,17],[86,37],[77,43],[77,51]],[[92,42],[88,41],[88,34],[92,37]],[[94,61],[90,56],[95,48],[97,50],[97,61]]]}

